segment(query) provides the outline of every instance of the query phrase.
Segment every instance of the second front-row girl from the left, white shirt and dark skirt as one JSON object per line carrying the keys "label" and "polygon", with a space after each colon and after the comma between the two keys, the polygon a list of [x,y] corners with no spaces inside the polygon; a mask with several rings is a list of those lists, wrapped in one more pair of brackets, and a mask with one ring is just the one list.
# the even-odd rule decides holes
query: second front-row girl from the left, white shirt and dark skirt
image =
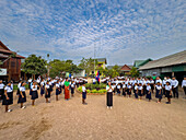
{"label": "second front-row girl from the left, white shirt and dark skirt", "polygon": [[23,103],[26,102],[26,94],[25,94],[25,85],[26,83],[22,82],[20,85],[20,93],[19,93],[19,101],[18,104],[21,104],[21,108],[24,109]]}

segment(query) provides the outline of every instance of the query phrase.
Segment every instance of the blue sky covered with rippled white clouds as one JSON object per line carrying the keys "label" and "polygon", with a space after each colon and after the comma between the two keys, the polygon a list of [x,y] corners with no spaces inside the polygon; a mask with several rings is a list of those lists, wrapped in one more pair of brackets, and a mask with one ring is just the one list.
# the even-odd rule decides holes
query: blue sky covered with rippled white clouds
{"label": "blue sky covered with rippled white clouds", "polygon": [[186,49],[185,0],[0,0],[0,40],[27,57],[159,59]]}

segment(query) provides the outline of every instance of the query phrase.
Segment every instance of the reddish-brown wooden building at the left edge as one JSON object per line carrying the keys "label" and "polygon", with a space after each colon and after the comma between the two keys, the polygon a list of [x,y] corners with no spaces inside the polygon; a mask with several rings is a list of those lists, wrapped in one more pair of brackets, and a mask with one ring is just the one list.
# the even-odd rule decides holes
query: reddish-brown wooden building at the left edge
{"label": "reddish-brown wooden building at the left edge", "polygon": [[11,51],[0,42],[0,79],[19,81],[21,78],[21,59],[24,59],[24,57]]}

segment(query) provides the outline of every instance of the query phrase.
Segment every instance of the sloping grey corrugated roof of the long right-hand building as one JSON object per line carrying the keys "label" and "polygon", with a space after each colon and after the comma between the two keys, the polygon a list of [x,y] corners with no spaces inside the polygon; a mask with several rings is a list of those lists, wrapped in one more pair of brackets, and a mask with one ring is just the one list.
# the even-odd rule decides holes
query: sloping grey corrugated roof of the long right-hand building
{"label": "sloping grey corrugated roof of the long right-hand building", "polygon": [[158,60],[149,61],[147,65],[140,67],[139,70],[161,68],[182,63],[186,63],[186,50],[160,58]]}

